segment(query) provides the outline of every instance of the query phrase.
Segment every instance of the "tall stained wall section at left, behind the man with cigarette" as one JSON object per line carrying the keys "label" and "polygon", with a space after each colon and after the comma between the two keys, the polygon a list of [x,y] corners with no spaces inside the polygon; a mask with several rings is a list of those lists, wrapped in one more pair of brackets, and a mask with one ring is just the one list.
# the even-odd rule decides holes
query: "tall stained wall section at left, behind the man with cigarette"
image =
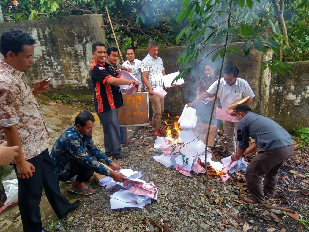
{"label": "tall stained wall section at left, behind the man with cigarette", "polygon": [[0,24],[0,33],[20,28],[32,35],[34,64],[26,73],[28,84],[52,77],[54,87],[87,86],[92,61],[91,45],[105,38],[102,15],[74,15],[56,19]]}

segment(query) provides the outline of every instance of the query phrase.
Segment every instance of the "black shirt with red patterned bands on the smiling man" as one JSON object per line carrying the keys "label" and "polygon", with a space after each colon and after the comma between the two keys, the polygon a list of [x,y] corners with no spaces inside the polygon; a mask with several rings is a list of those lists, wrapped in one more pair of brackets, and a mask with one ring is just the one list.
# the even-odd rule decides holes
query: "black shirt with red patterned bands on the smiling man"
{"label": "black shirt with red patterned bands on the smiling man", "polygon": [[90,77],[95,91],[94,102],[97,113],[114,110],[123,105],[119,85],[111,85],[106,82],[110,77],[120,78],[120,76],[108,63],[102,64],[96,60],[92,61]]}

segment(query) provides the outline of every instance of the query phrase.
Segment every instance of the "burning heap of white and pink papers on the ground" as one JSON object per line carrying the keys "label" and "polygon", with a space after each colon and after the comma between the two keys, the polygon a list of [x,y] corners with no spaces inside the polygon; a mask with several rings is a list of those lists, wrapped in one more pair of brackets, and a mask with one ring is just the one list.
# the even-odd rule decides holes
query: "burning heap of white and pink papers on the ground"
{"label": "burning heap of white and pink papers on the ground", "polygon": [[[189,117],[186,117],[189,115]],[[195,116],[195,109],[191,107],[184,107],[184,110],[178,120],[181,125],[186,125],[185,128],[194,128],[196,122],[192,122],[193,115]],[[230,115],[231,116],[231,115]],[[184,127],[183,127],[184,129]],[[191,177],[190,172],[197,174],[205,173],[205,169],[200,165],[205,163],[205,148],[206,145],[202,140],[198,140],[197,136],[191,129],[184,129],[178,134],[177,139],[167,137],[157,137],[154,148],[161,151],[163,154],[154,156],[155,161],[163,164],[167,168],[173,167],[181,174]],[[222,181],[226,181],[230,176],[228,172],[246,170],[247,164],[243,160],[232,162],[231,156],[222,159],[221,162],[212,161],[212,153],[207,148],[207,160],[213,169],[217,170]],[[206,166],[206,165],[205,165]]]}

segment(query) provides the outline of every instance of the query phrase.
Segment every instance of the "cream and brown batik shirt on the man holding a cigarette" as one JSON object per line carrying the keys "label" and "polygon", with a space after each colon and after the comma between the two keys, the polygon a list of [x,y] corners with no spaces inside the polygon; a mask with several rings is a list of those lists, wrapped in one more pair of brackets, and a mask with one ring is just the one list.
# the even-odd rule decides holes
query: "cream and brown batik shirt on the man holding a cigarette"
{"label": "cream and brown batik shirt on the man holding a cigarette", "polygon": [[48,148],[49,133],[23,72],[0,60],[0,143],[6,140],[3,127],[13,125],[17,127],[26,160]]}

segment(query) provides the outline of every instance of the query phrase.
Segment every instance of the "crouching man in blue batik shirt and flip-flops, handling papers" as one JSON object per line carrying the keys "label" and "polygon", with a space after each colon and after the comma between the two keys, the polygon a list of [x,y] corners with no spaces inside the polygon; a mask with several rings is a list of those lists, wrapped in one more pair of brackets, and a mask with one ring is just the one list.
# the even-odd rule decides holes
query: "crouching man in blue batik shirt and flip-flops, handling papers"
{"label": "crouching man in blue batik shirt and flip-flops, handling papers", "polygon": [[95,146],[91,138],[94,126],[95,118],[89,111],[79,113],[75,124],[59,136],[50,152],[60,181],[68,181],[77,175],[69,191],[79,195],[93,193],[93,189],[84,182],[89,182],[94,172],[110,176],[116,182],[126,180],[123,174],[111,171],[100,163],[104,162],[112,170],[121,169]]}

